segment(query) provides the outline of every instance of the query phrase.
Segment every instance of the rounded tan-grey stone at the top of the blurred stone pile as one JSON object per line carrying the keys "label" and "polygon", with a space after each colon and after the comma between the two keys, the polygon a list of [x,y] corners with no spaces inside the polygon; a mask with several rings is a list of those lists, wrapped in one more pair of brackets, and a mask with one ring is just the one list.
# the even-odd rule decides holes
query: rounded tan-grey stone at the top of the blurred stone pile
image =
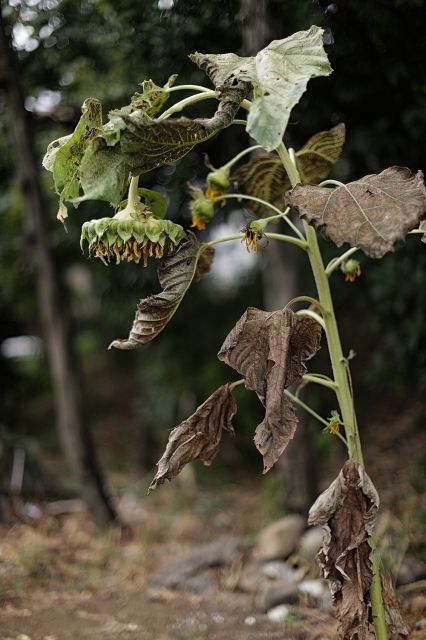
{"label": "rounded tan-grey stone at the top of the blurred stone pile", "polygon": [[265,560],[287,558],[296,550],[305,527],[306,518],[297,514],[273,522],[259,532],[256,555]]}

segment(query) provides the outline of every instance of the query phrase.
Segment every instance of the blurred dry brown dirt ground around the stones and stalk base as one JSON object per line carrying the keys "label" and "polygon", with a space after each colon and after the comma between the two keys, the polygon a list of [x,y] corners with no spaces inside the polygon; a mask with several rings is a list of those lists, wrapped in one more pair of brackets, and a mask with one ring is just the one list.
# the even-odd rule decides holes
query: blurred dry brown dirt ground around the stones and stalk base
{"label": "blurred dry brown dirt ground around the stones and stalk base", "polygon": [[[365,447],[383,498],[378,538],[389,570],[407,549],[424,545],[426,472],[417,462],[426,453],[426,431],[420,424],[413,429],[419,411],[424,415],[420,409],[402,413],[392,430],[386,421],[372,422],[374,438]],[[339,455],[329,461],[322,489],[340,464]],[[215,587],[208,596],[150,588],[150,574],[194,545],[231,535],[250,546],[262,527],[283,515],[279,499],[261,489],[259,478],[207,490],[184,477],[146,499],[150,480],[110,476],[121,487],[118,505],[130,532],[99,531],[78,502],[72,513],[46,512],[31,523],[0,528],[0,640],[336,638],[334,618],[306,598],[290,606],[283,622],[269,619],[254,593],[238,590],[235,567],[209,570]],[[313,563],[306,571],[318,575]],[[398,596],[409,639],[426,640],[426,580]]]}

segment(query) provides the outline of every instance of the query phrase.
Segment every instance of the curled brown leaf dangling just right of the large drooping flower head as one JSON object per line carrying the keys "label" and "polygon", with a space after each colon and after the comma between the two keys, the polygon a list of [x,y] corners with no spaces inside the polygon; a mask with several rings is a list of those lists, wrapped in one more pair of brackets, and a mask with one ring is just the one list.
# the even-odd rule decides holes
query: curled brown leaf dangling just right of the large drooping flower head
{"label": "curled brown leaf dangling just right of the large drooping flower head", "polygon": [[[114,340],[109,349],[137,349],[153,340],[172,318],[197,272],[201,245],[191,231],[187,235],[188,242],[182,243],[176,253],[160,262],[158,280],[163,291],[140,301],[129,337]],[[209,255],[211,264],[213,255],[210,251]],[[206,271],[205,267],[204,273]]]}

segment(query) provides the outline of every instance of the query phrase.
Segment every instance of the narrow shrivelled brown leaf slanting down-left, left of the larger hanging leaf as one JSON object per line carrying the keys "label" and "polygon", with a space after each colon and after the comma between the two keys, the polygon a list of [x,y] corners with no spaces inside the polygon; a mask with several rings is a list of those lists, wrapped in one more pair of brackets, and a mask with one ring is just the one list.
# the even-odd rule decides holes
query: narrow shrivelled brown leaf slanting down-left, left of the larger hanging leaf
{"label": "narrow shrivelled brown leaf slanting down-left, left of the larger hanging leaf", "polygon": [[172,480],[184,466],[199,458],[210,465],[219,451],[222,429],[234,435],[232,417],[237,413],[229,384],[220,387],[196,412],[170,433],[166,450],[158,462],[158,471],[148,494],[166,480]]}

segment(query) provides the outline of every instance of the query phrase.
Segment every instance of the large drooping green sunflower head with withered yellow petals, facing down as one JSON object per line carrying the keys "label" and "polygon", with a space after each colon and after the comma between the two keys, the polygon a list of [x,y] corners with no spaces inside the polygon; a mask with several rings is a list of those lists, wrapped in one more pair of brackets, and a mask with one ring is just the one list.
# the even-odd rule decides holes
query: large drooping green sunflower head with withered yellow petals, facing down
{"label": "large drooping green sunflower head with withered yellow petals, facing down", "polygon": [[87,240],[89,252],[104,264],[113,257],[117,264],[125,258],[138,263],[143,257],[146,267],[148,256],[162,258],[173,253],[184,238],[186,234],[179,224],[140,214],[137,219],[101,218],[85,222],[80,245],[83,248],[83,241]]}

